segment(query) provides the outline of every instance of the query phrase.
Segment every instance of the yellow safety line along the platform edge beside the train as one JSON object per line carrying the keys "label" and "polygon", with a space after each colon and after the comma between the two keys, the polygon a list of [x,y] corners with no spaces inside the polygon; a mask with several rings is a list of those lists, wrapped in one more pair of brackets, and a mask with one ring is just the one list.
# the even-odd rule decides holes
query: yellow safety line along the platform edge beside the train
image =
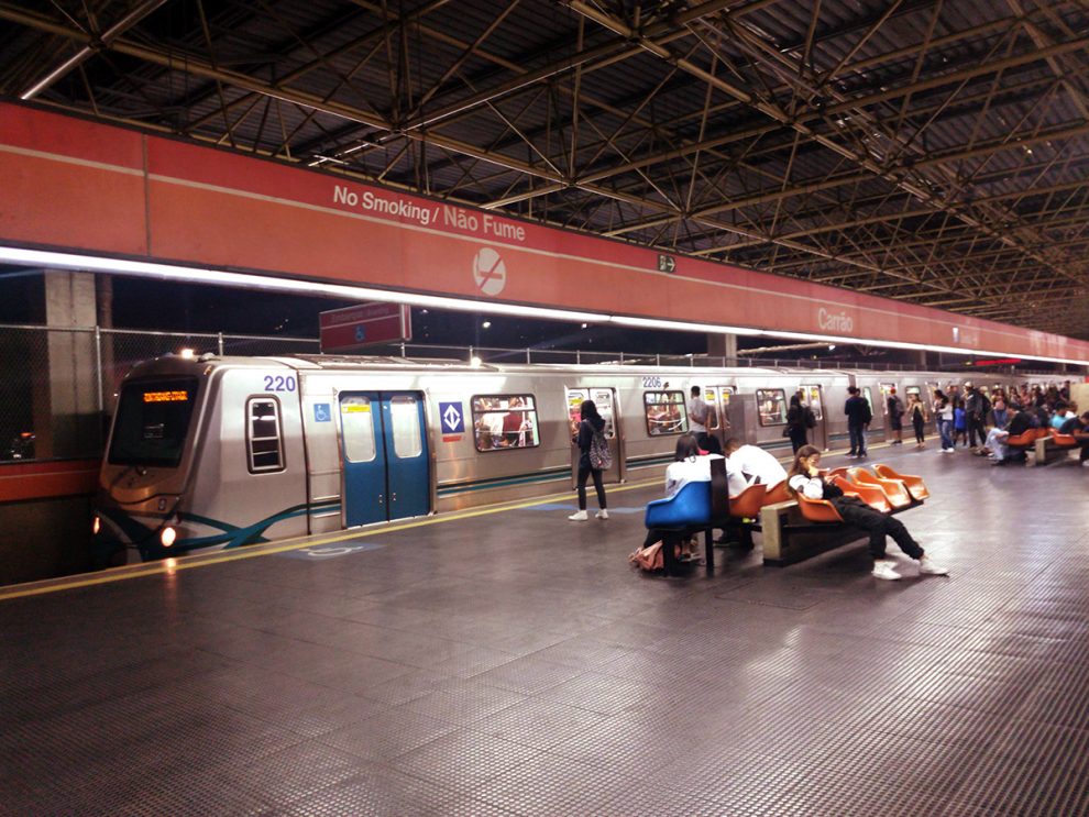
{"label": "yellow safety line along the platform edge beside the train", "polygon": [[[626,485],[610,485],[608,488],[609,494],[618,494],[625,490],[635,490],[637,488],[646,488],[650,485],[658,485],[661,479],[645,479],[638,483],[628,483]],[[304,548],[314,548],[323,544],[334,544],[336,542],[343,542],[348,539],[360,539],[363,537],[375,537],[384,536],[386,533],[396,533],[403,530],[410,530],[413,528],[422,528],[428,525],[441,525],[442,522],[453,522],[459,519],[472,519],[473,517],[488,516],[491,514],[502,514],[507,510],[519,510],[521,508],[531,508],[535,505],[543,505],[549,501],[554,501],[556,499],[568,498],[570,499],[570,492],[563,492],[562,494],[549,494],[542,497],[535,497],[531,500],[510,503],[501,503],[498,505],[493,505],[484,508],[475,508],[473,510],[455,510],[449,514],[441,514],[432,517],[426,517],[422,519],[414,519],[409,522],[399,523],[387,523],[381,528],[369,528],[359,529],[353,528],[351,530],[338,531],[336,534],[330,534],[319,539],[302,538],[302,539],[289,539],[284,542],[276,542],[270,544],[251,544],[238,550],[226,550],[217,551],[215,553],[198,554],[191,556],[178,556],[174,559],[165,559],[156,562],[145,562],[140,565],[125,565],[121,567],[110,567],[108,570],[95,573],[91,575],[82,574],[78,576],[64,576],[61,578],[47,578],[41,582],[28,582],[25,584],[11,585],[9,587],[0,587],[0,601],[6,601],[11,598],[23,598],[25,596],[41,596],[46,593],[57,593],[59,590],[74,589],[76,587],[91,587],[99,584],[110,584],[113,582],[123,582],[129,578],[141,578],[143,576],[155,576],[162,574],[174,574],[178,571],[190,570],[193,567],[207,567],[212,564],[222,564],[224,562],[234,562],[240,559],[255,559],[256,556],[267,556],[274,555],[276,553],[285,553],[293,550],[301,550]]]}

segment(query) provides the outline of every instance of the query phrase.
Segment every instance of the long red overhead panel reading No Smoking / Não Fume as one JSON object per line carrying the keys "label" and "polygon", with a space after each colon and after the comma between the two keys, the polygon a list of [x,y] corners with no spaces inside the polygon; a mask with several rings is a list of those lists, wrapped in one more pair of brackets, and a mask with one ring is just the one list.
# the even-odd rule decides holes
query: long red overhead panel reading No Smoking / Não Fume
{"label": "long red overhead panel reading No Smoking / N\u00e3o Fume", "polygon": [[1089,343],[0,104],[0,242],[1019,356]]}

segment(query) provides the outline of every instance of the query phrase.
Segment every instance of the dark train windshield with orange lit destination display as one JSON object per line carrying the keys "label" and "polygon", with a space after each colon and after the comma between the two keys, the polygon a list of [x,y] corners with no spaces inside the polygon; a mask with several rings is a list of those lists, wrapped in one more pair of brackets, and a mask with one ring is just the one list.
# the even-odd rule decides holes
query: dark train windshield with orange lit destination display
{"label": "dark train windshield with orange lit destination display", "polygon": [[110,464],[177,467],[196,397],[196,377],[125,385],[113,421]]}

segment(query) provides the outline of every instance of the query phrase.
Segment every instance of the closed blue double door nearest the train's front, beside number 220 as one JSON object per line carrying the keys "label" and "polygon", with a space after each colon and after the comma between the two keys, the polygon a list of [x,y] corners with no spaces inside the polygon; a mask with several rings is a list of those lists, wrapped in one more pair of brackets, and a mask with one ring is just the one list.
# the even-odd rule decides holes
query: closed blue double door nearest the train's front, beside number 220
{"label": "closed blue double door nearest the train's front, beside number 220", "polygon": [[343,393],[340,431],[345,528],[430,510],[422,394]]}

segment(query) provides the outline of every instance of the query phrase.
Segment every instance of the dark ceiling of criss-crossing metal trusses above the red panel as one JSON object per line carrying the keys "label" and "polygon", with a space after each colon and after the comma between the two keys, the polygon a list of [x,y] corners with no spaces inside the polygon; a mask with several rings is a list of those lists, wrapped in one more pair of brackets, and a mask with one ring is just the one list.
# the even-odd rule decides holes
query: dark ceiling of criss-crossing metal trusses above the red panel
{"label": "dark ceiling of criss-crossing metal trusses above the red panel", "polygon": [[0,0],[0,92],[1089,339],[1084,0]]}

